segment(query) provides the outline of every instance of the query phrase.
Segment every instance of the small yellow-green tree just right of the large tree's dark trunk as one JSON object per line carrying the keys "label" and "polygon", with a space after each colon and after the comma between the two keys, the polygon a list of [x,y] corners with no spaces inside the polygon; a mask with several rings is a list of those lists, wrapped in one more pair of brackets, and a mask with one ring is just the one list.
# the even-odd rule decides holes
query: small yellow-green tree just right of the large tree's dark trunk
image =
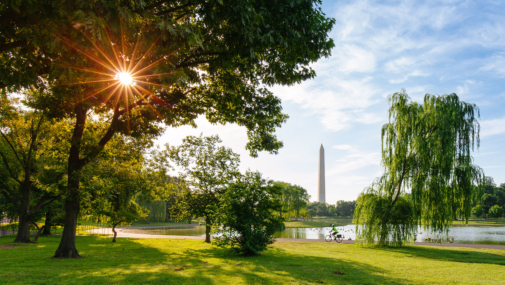
{"label": "small yellow-green tree just right of the large tree's dark trunk", "polygon": [[[116,226],[130,225],[145,218],[149,211],[135,199],[159,200],[169,191],[152,180],[153,163],[144,157],[146,147],[142,142],[123,135],[111,139],[97,161],[85,167],[81,187],[91,199],[81,199],[81,210],[93,215],[97,222],[107,222],[112,227],[116,242]],[[161,201],[166,214],[165,201]]]}

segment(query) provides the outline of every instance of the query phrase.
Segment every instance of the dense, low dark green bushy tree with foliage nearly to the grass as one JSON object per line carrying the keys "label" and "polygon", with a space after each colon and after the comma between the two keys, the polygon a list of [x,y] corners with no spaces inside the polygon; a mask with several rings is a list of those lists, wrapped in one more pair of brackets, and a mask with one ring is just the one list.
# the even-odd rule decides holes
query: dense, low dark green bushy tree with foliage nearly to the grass
{"label": "dense, low dark green bushy tree with foliage nearly to the grass", "polygon": [[216,244],[230,247],[235,254],[259,255],[266,250],[284,222],[276,214],[282,207],[277,199],[280,192],[273,181],[247,171],[222,197],[218,221],[223,228],[217,230],[222,236],[215,238]]}

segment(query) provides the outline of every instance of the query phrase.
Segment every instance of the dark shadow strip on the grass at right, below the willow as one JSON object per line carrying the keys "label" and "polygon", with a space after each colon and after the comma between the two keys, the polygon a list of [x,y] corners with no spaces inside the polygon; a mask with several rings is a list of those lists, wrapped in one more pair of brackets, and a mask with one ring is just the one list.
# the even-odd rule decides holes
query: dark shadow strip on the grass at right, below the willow
{"label": "dark shadow strip on the grass at right, below the willow", "polygon": [[505,251],[502,250],[477,250],[430,246],[405,246],[380,249],[405,254],[407,257],[416,256],[444,261],[505,265]]}

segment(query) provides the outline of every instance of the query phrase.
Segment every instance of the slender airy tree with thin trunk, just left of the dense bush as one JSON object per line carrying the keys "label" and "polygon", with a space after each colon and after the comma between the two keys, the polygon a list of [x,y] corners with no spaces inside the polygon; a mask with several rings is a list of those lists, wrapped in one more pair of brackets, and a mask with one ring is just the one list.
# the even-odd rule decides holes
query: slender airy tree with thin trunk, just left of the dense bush
{"label": "slender airy tree with thin trunk, just left of the dense bush", "polygon": [[205,241],[211,242],[211,227],[219,196],[238,172],[239,155],[231,148],[217,146],[219,136],[188,136],[179,147],[170,148],[169,156],[182,168],[179,178],[191,188],[178,195],[172,207],[176,220],[205,217]]}

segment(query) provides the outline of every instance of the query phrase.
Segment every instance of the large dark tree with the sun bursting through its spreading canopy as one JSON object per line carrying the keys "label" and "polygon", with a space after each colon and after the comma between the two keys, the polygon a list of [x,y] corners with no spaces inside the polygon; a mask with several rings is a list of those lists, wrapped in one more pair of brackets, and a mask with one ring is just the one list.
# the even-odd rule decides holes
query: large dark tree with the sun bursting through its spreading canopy
{"label": "large dark tree with the sun bursting through its spreading canopy", "polygon": [[[282,147],[287,119],[266,87],[315,76],[329,56],[334,20],[318,0],[11,0],[0,5],[0,87],[47,83],[32,107],[72,116],[66,221],[55,257],[79,257],[75,226],[82,168],[116,133],[157,135],[167,126],[236,123],[251,155]],[[20,80],[19,78],[26,78]],[[80,83],[80,84],[76,84]],[[81,149],[90,116],[108,122]]]}

